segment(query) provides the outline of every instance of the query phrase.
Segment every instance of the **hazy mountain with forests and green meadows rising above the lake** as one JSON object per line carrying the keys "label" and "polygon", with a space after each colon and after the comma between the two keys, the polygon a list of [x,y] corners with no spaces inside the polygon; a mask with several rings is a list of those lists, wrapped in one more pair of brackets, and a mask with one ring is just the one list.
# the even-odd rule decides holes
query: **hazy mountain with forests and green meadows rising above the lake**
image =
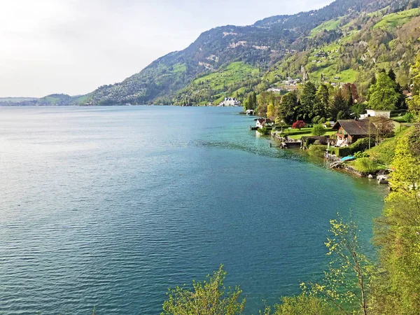
{"label": "hazy mountain with forests and green meadows rising above the lake", "polygon": [[31,102],[218,104],[226,96],[242,100],[252,91],[284,89],[288,78],[358,83],[363,90],[374,71],[390,67],[402,85],[408,84],[409,64],[420,51],[419,4],[336,0],[319,10],[277,15],[254,25],[216,27],[121,83],[84,97]]}

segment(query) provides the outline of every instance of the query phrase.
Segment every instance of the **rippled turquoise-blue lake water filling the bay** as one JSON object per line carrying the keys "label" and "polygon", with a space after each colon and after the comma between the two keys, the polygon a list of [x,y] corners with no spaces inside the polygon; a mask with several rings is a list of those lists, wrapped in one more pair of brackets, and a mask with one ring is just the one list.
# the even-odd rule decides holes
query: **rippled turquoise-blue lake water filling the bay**
{"label": "rippled turquoise-blue lake water filling the bay", "polygon": [[246,314],[321,277],[384,188],[269,148],[239,109],[0,108],[0,314],[159,314],[223,263]]}

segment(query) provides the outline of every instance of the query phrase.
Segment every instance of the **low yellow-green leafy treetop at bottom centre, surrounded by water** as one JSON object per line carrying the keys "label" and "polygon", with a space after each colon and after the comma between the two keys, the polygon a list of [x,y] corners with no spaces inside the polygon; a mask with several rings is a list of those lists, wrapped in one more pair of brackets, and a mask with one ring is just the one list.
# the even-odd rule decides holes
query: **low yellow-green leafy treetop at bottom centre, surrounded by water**
{"label": "low yellow-green leafy treetop at bottom centre, surrounded by water", "polygon": [[239,301],[241,290],[235,287],[235,290],[225,293],[225,276],[226,272],[221,266],[208,282],[193,282],[193,290],[179,286],[169,290],[162,315],[242,314],[245,300]]}

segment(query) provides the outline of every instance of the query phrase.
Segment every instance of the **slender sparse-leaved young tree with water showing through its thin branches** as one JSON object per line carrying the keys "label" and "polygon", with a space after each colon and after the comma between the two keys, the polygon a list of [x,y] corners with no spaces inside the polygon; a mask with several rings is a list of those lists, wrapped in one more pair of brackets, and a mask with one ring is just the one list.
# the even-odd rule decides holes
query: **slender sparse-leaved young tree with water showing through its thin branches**
{"label": "slender sparse-leaved young tree with water showing through its thin branches", "polygon": [[364,315],[367,309],[367,283],[372,272],[372,265],[360,251],[357,237],[357,225],[353,221],[345,223],[342,218],[330,221],[331,236],[325,246],[328,256],[331,256],[330,267],[324,272],[323,283],[310,284],[311,291],[325,297],[335,304],[344,314],[344,305],[349,305],[357,314],[360,310]]}

